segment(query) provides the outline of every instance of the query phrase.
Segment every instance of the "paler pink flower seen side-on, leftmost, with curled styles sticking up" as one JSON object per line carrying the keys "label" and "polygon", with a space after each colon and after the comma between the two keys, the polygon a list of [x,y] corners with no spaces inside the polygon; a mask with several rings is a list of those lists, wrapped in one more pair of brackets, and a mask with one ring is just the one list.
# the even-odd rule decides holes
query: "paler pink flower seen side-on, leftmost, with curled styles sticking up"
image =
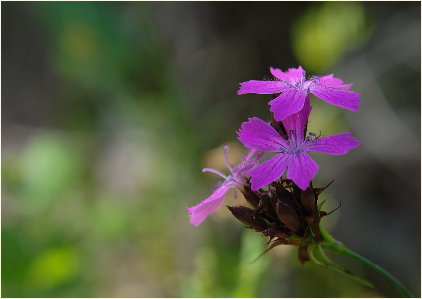
{"label": "paler pink flower seen side-on, leftmost, with curled styles sticking up", "polygon": [[[190,223],[198,226],[201,224],[212,212],[217,210],[221,203],[223,202],[224,196],[229,191],[230,188],[238,188],[241,191],[244,191],[244,185],[246,184],[246,173],[256,165],[259,155],[253,161],[251,161],[251,157],[255,153],[256,150],[251,150],[246,157],[242,158],[242,161],[239,165],[232,168],[227,160],[227,150],[229,146],[224,147],[226,150],[224,151],[224,160],[226,162],[227,168],[230,170],[230,175],[225,176],[220,171],[211,169],[211,168],[204,168],[202,169],[203,172],[209,171],[213,172],[219,176],[221,176],[224,181],[219,182],[214,192],[204,201],[199,203],[194,207],[188,207],[189,216],[190,216]],[[261,154],[262,155],[262,154]],[[236,193],[235,193],[236,197]]]}

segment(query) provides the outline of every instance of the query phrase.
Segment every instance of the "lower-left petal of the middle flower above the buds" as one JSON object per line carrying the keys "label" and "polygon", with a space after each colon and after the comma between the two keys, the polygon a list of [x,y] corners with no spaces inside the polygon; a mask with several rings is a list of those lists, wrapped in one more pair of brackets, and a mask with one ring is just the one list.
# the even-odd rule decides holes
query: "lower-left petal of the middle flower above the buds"
{"label": "lower-left petal of the middle flower above the buds", "polygon": [[259,188],[278,180],[286,170],[288,161],[289,156],[280,153],[253,168],[249,172],[249,175],[251,176],[251,189],[256,191]]}

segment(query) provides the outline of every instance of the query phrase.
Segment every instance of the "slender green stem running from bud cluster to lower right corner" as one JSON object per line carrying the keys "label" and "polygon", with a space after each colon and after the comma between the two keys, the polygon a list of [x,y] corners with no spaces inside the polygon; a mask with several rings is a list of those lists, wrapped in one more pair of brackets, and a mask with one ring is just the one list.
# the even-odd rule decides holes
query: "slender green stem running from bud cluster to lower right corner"
{"label": "slender green stem running from bud cluster to lower right corner", "polygon": [[414,298],[414,296],[396,279],[394,278],[390,273],[385,271],[383,268],[381,268],[378,265],[375,265],[371,261],[367,260],[363,256],[353,252],[352,250],[346,248],[346,246],[343,245],[343,243],[336,241],[333,239],[333,237],[330,236],[330,234],[327,233],[321,226],[320,226],[321,234],[324,237],[325,241],[324,243],[321,243],[322,247],[325,249],[330,249],[334,253],[338,255],[344,255],[348,256],[350,258],[353,258],[354,260],[360,262],[362,265],[368,267],[375,273],[379,274],[381,277],[383,277],[386,281],[388,281],[394,288],[396,288],[397,291],[399,291],[404,297],[407,298]]}

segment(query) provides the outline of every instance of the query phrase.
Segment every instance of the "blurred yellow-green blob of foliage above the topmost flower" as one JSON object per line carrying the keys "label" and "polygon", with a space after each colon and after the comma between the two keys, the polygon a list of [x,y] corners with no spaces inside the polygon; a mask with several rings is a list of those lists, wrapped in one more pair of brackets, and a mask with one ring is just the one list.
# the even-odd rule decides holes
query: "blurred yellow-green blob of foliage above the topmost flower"
{"label": "blurred yellow-green blob of foliage above the topmost flower", "polygon": [[320,2],[292,25],[292,48],[309,73],[326,71],[367,41],[369,24],[360,2]]}

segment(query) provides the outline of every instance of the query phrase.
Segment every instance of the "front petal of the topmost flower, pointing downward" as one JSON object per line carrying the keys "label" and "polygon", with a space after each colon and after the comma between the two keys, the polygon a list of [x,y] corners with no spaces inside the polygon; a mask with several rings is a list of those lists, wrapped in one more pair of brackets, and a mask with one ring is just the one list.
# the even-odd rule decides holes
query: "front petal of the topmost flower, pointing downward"
{"label": "front petal of the topmost flower, pointing downward", "polygon": [[268,104],[271,105],[270,111],[274,112],[275,120],[280,121],[287,116],[300,111],[303,108],[305,98],[305,92],[292,88],[286,90]]}

